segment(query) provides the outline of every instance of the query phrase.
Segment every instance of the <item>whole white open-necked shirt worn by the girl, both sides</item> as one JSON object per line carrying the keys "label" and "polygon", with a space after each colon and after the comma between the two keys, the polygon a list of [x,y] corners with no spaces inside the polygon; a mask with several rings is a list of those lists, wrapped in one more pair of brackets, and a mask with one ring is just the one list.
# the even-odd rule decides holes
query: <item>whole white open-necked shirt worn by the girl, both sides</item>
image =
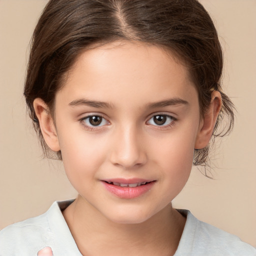
{"label": "whole white open-necked shirt worn by the girl, both sides", "polygon": [[[3,228],[0,256],[36,256],[46,246],[53,256],[81,256],[61,213],[72,201],[54,202],[42,215]],[[199,221],[188,210],[179,212],[186,223],[174,256],[256,256],[256,248],[237,236]]]}

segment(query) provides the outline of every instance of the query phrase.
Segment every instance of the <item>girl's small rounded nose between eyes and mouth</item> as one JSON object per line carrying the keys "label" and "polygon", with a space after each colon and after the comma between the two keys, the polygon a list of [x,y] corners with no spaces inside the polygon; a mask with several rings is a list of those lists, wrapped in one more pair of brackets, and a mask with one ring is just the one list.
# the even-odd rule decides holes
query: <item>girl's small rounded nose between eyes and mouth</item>
{"label": "girl's small rounded nose between eyes and mouth", "polygon": [[112,146],[110,161],[116,166],[130,169],[141,166],[147,161],[141,132],[135,127],[115,130]]}

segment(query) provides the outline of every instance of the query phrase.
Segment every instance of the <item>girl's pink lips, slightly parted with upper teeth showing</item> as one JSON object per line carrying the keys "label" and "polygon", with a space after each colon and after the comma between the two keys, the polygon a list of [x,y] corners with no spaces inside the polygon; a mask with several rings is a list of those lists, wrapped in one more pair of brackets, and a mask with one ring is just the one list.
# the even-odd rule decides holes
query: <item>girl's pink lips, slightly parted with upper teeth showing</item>
{"label": "girl's pink lips, slightly parted with upper teeth showing", "polygon": [[155,180],[111,179],[101,180],[104,188],[119,198],[132,199],[150,191]]}

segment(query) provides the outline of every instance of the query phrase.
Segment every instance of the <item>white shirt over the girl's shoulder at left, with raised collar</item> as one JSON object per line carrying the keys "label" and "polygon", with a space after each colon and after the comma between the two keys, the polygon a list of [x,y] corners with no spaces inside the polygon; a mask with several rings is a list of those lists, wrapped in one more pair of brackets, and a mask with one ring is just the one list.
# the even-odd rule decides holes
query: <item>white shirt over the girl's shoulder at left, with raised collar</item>
{"label": "white shirt over the girl's shoulder at left, with raised collar", "polygon": [[81,256],[61,212],[72,202],[54,202],[45,213],[3,228],[0,256],[36,255],[44,247],[54,255]]}

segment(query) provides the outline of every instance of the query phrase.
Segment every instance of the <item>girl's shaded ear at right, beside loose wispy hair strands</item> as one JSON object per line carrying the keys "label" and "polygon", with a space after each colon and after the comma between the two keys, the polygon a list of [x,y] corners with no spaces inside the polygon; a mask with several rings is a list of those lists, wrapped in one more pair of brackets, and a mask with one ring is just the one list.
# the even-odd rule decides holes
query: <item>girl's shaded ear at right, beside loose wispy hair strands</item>
{"label": "girl's shaded ear at right, beside loose wispy hair strands", "polygon": [[221,105],[222,100],[220,92],[216,90],[212,91],[209,107],[206,110],[199,124],[194,145],[195,149],[204,148],[209,143],[215,122],[221,109]]}

